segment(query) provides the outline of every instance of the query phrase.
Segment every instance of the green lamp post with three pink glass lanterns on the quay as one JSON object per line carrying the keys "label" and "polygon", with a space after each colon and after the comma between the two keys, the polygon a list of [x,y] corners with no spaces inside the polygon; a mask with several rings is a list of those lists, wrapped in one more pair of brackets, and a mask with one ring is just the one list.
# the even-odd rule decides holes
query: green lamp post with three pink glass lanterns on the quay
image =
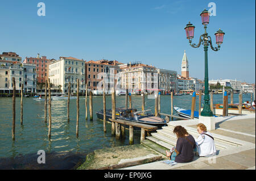
{"label": "green lamp post with three pink glass lanterns on the quay", "polygon": [[210,48],[214,51],[220,50],[220,45],[223,42],[224,32],[221,30],[218,30],[214,35],[216,36],[216,44],[218,44],[218,47],[213,47],[212,45],[212,38],[208,36],[207,33],[207,25],[209,24],[209,17],[210,13],[205,9],[200,14],[202,19],[202,24],[204,25],[204,34],[202,34],[199,38],[199,43],[196,45],[195,43],[192,44],[192,39],[194,37],[194,30],[195,26],[191,24],[190,22],[187,24],[187,26],[184,28],[187,39],[189,40],[189,45],[193,48],[199,48],[200,45],[204,45],[204,59],[205,59],[205,74],[204,74],[204,109],[201,112],[201,116],[213,116],[212,111],[210,110],[210,104],[209,104],[209,83],[208,83],[208,46],[210,45]]}

